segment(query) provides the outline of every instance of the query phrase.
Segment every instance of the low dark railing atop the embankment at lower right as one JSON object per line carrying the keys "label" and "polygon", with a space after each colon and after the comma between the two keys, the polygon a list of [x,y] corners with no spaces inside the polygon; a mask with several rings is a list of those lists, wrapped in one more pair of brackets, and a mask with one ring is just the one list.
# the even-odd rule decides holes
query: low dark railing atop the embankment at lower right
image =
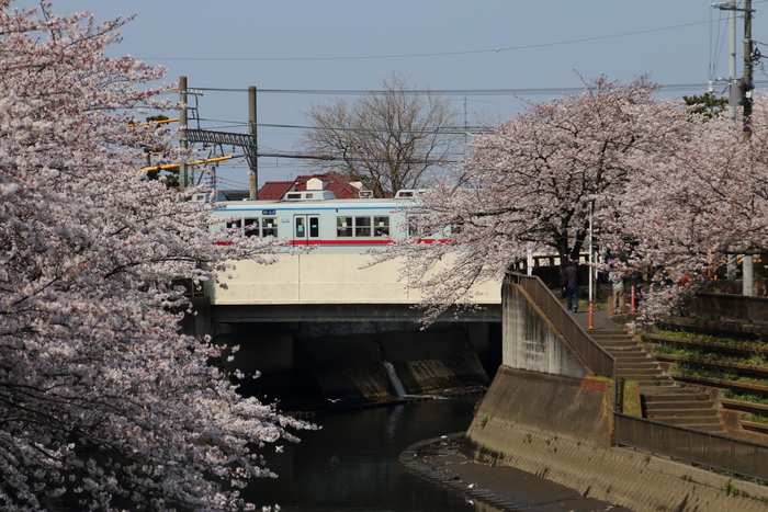
{"label": "low dark railing atop the embankment at lower right", "polygon": [[768,444],[614,414],[615,443],[620,446],[768,480]]}

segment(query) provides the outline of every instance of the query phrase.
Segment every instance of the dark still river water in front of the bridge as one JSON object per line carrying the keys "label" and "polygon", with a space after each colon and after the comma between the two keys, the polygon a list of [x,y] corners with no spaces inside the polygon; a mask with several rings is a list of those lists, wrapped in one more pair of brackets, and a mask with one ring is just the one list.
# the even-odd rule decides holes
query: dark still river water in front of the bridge
{"label": "dark still river water in front of the bridge", "polygon": [[[276,479],[252,480],[257,505],[283,511],[474,511],[464,496],[407,471],[397,462],[410,444],[464,431],[479,395],[318,414],[317,432],[267,454]],[[280,444],[280,443],[278,443]]]}

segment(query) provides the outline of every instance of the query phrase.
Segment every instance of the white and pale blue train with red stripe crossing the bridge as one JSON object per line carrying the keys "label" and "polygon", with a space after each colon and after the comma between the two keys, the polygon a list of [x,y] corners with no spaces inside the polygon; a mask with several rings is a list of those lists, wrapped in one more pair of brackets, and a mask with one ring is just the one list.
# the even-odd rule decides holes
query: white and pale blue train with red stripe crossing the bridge
{"label": "white and pale blue train with red stripe crossing the bridge", "polygon": [[[406,208],[414,206],[418,195],[418,191],[400,191],[388,200],[337,200],[328,191],[291,192],[282,201],[217,202],[214,215],[235,217],[226,227],[240,228],[246,237],[314,246],[314,253],[365,252],[406,236]],[[206,201],[207,194],[194,200]]]}

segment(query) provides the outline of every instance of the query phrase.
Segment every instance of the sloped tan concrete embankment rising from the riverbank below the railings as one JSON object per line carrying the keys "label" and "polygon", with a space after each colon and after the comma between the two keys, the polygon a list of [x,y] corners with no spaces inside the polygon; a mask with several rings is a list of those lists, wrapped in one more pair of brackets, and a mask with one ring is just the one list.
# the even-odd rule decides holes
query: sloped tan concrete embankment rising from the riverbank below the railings
{"label": "sloped tan concrete embankment rising from the riverbank below the railings", "polygon": [[594,383],[501,367],[461,454],[634,512],[768,510],[765,486],[611,447],[608,396]]}

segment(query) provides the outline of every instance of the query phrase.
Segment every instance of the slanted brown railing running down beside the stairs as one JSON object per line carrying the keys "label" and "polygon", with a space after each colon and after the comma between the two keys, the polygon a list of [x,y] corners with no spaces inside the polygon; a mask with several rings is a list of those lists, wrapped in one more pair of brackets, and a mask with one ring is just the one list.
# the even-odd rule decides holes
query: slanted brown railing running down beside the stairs
{"label": "slanted brown railing running down beside the stairs", "polygon": [[[567,309],[539,276],[507,272],[507,281],[520,285],[528,292],[544,315],[563,334],[563,338],[596,375],[611,377],[615,383],[615,360],[613,356],[592,340],[581,326],[576,323]],[[615,400],[613,402],[615,403]]]}

